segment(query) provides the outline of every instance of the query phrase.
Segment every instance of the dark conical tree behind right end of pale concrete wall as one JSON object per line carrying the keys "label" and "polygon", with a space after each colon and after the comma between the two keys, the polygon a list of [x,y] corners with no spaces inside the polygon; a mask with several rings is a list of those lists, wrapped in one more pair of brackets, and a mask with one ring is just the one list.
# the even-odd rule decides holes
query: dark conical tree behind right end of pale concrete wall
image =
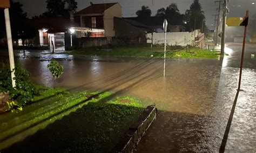
{"label": "dark conical tree behind right end of pale concrete wall", "polygon": [[193,1],[193,3],[190,5],[190,10],[186,10],[185,18],[187,19],[187,29],[189,31],[206,29],[204,11],[199,3],[199,0]]}

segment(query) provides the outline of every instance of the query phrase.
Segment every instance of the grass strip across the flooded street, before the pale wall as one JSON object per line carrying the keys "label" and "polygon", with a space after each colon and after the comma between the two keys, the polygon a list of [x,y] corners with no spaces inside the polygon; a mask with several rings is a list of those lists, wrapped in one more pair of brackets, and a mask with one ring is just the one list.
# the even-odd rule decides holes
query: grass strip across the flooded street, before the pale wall
{"label": "grass strip across the flooded street, before the pale wall", "polygon": [[[114,47],[112,49],[100,49],[90,47],[83,50],[68,51],[71,55],[98,55],[107,57],[131,57],[131,58],[164,58],[163,46],[130,46],[130,47]],[[201,50],[200,48],[191,48],[186,52],[184,47],[167,46],[166,58],[213,58],[217,59],[219,51]]]}

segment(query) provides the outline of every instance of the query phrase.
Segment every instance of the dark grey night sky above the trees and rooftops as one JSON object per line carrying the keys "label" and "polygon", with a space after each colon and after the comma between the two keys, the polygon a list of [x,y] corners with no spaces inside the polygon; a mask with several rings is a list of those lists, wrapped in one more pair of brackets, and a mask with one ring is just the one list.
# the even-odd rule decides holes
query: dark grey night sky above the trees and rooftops
{"label": "dark grey night sky above the trees and rooftops", "polygon": [[[45,0],[15,0],[23,4],[23,10],[28,13],[28,17],[40,15],[46,11]],[[177,3],[178,9],[181,13],[184,13],[189,9],[193,0],[76,0],[78,2],[78,11],[86,8],[93,3],[108,3],[119,2],[122,5],[123,17],[136,16],[136,11],[141,8],[142,5],[149,6],[152,11],[152,15],[155,15],[160,8],[166,8],[170,3]],[[214,24],[213,14],[217,13],[216,8],[218,4],[214,3],[215,0],[199,0],[203,6],[205,12],[206,24],[210,29],[213,29]],[[217,0],[216,0],[217,1]],[[256,14],[256,4],[252,5],[252,2],[256,3],[256,0],[230,0],[230,14],[229,16],[244,16],[246,9],[249,9],[251,15]],[[256,17],[256,16],[255,16]]]}

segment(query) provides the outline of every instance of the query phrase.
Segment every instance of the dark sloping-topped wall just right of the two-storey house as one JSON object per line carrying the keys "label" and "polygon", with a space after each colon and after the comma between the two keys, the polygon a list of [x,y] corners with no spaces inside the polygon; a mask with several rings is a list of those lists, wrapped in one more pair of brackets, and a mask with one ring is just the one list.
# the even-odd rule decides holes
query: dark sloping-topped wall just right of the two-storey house
{"label": "dark sloping-topped wall just right of the two-storey house", "polygon": [[144,30],[119,18],[114,18],[114,31],[117,38],[145,38],[146,34]]}

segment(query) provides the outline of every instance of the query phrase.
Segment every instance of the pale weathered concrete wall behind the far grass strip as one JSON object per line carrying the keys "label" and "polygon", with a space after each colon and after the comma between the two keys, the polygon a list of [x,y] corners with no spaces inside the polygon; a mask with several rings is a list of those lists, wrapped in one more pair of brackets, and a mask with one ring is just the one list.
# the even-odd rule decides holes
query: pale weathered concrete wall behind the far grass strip
{"label": "pale weathered concrete wall behind the far grass strip", "polygon": [[[186,46],[194,45],[195,38],[199,37],[200,32],[195,30],[193,32],[167,32],[166,44],[169,46]],[[146,34],[147,43],[151,43],[152,34]],[[164,44],[165,33],[153,33],[153,45]]]}

